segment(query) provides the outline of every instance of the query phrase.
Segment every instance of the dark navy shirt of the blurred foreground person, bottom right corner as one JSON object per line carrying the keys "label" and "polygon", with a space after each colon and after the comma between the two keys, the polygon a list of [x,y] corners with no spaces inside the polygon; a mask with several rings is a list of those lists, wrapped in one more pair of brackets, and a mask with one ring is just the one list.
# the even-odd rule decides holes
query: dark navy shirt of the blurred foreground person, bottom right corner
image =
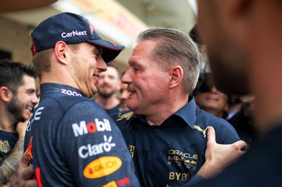
{"label": "dark navy shirt of the blurred foreground person, bottom right corner", "polygon": [[[282,122],[269,131],[264,138],[254,143],[247,153],[219,176],[204,180],[192,180],[193,187],[281,187],[282,186]],[[192,185],[194,184],[194,185]]]}

